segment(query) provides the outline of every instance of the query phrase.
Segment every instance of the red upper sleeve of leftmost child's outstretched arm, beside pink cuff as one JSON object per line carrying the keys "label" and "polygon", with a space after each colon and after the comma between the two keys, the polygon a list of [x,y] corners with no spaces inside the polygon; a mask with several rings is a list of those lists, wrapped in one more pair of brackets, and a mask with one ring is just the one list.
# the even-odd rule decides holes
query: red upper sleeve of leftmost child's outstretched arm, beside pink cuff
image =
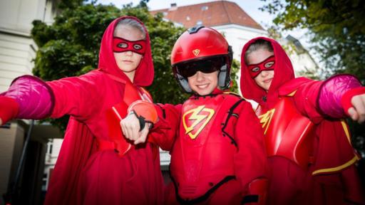
{"label": "red upper sleeve of leftmost child's outstretched arm, beside pink cuff", "polygon": [[55,105],[51,117],[73,115],[78,120],[85,120],[100,108],[103,98],[101,74],[87,73],[79,77],[62,78],[47,82],[55,95]]}

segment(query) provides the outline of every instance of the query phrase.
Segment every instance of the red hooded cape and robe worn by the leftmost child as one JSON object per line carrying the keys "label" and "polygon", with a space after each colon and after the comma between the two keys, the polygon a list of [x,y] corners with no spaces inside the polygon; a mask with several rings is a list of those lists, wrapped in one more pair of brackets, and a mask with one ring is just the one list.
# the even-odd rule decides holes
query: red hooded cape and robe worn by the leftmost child
{"label": "red hooded cape and robe worn by the leftmost child", "polygon": [[[61,152],[48,186],[45,204],[160,204],[163,178],[157,147],[132,147],[123,157],[97,152],[96,139],[108,140],[106,112],[123,100],[129,78],[118,68],[112,51],[113,32],[124,16],[106,28],[101,41],[98,69],[79,77],[48,82],[55,95],[51,117],[71,115]],[[142,25],[143,23],[140,22]],[[133,85],[153,82],[150,38],[135,73]]]}

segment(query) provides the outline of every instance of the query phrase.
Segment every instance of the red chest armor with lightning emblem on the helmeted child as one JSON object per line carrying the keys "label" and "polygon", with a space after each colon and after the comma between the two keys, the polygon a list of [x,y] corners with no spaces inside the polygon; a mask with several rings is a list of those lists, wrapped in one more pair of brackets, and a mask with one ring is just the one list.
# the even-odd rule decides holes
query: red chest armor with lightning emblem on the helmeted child
{"label": "red chest armor with lightning emblem on the helmeted child", "polygon": [[[191,98],[183,105],[179,135],[171,153],[171,174],[184,200],[207,194],[227,176],[234,176],[234,154],[230,137],[222,133],[228,110],[240,98],[235,95]],[[230,117],[235,118],[235,117]],[[237,120],[237,119],[236,119]]]}

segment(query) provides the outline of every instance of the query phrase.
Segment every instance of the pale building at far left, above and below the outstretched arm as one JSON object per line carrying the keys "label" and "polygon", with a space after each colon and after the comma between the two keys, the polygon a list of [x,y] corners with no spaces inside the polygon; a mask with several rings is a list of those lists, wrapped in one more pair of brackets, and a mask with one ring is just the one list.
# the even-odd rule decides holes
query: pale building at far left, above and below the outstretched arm
{"label": "pale building at far left, above and below the outstretched arm", "polygon": [[[54,3],[57,0],[0,0],[0,93],[9,88],[14,78],[19,75],[31,75],[34,67],[32,59],[36,55],[37,46],[31,38],[32,21],[35,19],[51,22],[55,14]],[[0,127],[0,194],[5,194],[11,189],[14,176],[24,147],[25,135],[29,125],[22,120],[13,120]],[[33,134],[39,131],[39,127],[34,127]],[[38,132],[39,133],[39,132]],[[32,135],[33,139],[34,135]],[[41,141],[38,139],[36,141]],[[31,142],[29,146],[28,161],[43,164],[46,150],[46,141],[40,143]],[[25,165],[28,166],[28,165]],[[28,171],[27,171],[28,172]],[[19,180],[19,186],[28,190],[39,190],[41,184],[33,183],[43,175],[41,170],[34,167],[23,179]],[[29,181],[29,182],[26,182]],[[38,180],[39,182],[40,180]],[[41,181],[40,181],[41,182]],[[26,185],[24,185],[24,183]],[[31,184],[31,185],[30,185]],[[33,187],[31,187],[33,186]],[[37,203],[40,193],[32,192],[22,194],[25,201]],[[0,197],[0,204],[4,204]]]}

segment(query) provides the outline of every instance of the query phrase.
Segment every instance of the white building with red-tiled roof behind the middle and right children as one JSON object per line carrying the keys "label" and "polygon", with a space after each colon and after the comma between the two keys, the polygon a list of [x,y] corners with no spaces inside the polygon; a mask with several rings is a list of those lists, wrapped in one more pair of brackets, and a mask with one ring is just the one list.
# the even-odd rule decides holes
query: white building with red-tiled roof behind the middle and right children
{"label": "white building with red-tiled roof behind the middle and right children", "polygon": [[[168,21],[191,28],[203,25],[215,28],[227,39],[233,50],[233,58],[241,61],[242,48],[252,38],[268,36],[262,26],[252,19],[235,2],[211,1],[202,4],[178,6],[171,4],[168,9],[150,11],[151,14],[162,13]],[[292,60],[296,75],[302,71],[317,70],[317,63],[309,55],[300,42],[292,36],[278,39],[285,48],[289,48],[289,57]],[[240,73],[237,73],[240,78]],[[239,81],[237,83],[240,83]]]}

